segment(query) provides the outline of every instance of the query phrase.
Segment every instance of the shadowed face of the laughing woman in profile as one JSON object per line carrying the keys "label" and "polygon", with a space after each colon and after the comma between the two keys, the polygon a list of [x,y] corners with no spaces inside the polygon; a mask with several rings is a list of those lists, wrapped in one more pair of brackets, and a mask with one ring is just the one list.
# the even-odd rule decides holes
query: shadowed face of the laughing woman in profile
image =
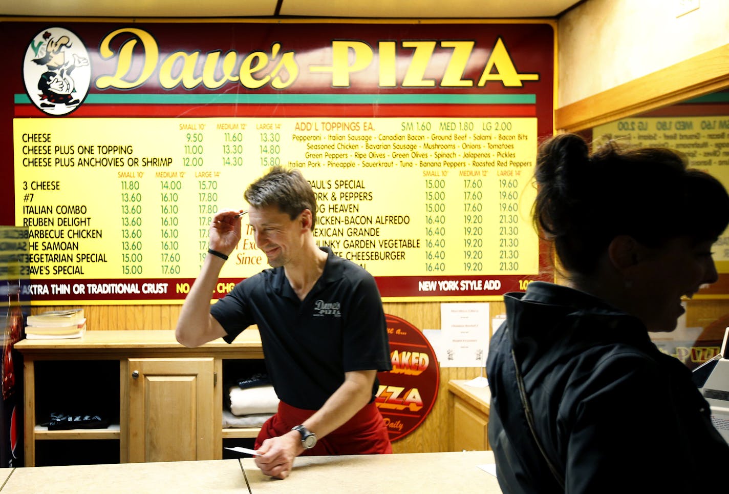
{"label": "shadowed face of the laughing woman in profile", "polygon": [[716,282],[712,242],[695,244],[688,237],[645,248],[631,275],[632,310],[648,331],[674,331],[684,312],[682,296],[691,298],[701,285]]}

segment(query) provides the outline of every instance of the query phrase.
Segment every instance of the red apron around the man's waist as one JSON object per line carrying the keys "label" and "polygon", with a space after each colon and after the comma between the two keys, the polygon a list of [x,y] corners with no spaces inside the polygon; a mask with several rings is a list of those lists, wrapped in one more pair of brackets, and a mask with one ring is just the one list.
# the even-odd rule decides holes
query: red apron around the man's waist
{"label": "red apron around the man's waist", "polygon": [[[265,439],[283,436],[295,425],[300,425],[316,410],[296,408],[283,401],[278,403],[278,412],[266,420],[256,438],[255,449]],[[367,404],[350,420],[327,436],[319,438],[316,446],[306,449],[302,456],[328,455],[377,455],[392,452],[387,426],[373,401]]]}

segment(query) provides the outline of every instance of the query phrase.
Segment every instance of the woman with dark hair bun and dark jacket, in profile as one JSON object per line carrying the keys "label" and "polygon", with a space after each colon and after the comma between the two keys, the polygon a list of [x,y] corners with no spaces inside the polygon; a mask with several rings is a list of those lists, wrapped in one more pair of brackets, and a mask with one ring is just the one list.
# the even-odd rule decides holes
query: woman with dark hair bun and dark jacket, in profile
{"label": "woman with dark hair bun and dark jacket, in profile", "polygon": [[674,151],[590,154],[574,134],[543,142],[534,173],[534,223],[565,281],[504,296],[486,364],[502,490],[690,493],[724,478],[709,404],[648,332],[673,331],[682,298],[717,281],[727,191]]}

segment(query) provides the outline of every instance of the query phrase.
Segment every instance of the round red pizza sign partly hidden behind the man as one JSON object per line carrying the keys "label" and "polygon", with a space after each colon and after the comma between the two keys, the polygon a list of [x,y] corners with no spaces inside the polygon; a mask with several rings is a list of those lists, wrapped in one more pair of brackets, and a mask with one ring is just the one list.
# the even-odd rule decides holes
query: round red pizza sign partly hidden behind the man
{"label": "round red pizza sign partly hidden behind the man", "polygon": [[433,347],[418,328],[390,314],[386,320],[392,370],[378,374],[375,404],[394,441],[415,431],[430,413],[440,371]]}

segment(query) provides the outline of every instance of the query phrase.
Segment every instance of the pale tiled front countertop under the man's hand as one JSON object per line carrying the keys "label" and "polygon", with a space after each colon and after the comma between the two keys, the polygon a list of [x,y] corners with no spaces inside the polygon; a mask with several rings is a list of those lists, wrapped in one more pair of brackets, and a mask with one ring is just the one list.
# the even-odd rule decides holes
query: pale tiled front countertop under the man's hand
{"label": "pale tiled front countertop under the man's hand", "polygon": [[[297,458],[285,480],[261,474],[252,458],[12,470],[2,493],[501,493],[479,465],[489,451]],[[245,474],[243,474],[245,471]]]}

